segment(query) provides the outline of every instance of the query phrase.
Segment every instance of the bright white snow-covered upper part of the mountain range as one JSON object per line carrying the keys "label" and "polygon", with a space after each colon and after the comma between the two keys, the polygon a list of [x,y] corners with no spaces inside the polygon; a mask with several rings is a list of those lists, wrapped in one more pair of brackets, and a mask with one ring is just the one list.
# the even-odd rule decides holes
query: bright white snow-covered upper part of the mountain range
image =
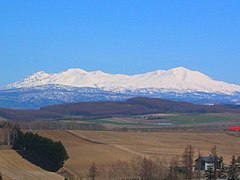
{"label": "bright white snow-covered upper part of the mountain range", "polygon": [[102,71],[87,72],[82,69],[48,74],[37,72],[22,81],[9,84],[4,89],[28,88],[40,85],[60,84],[73,87],[94,87],[110,91],[137,89],[161,89],[175,92],[209,92],[232,94],[240,92],[240,86],[216,81],[184,67],[158,70],[137,75],[108,74]]}

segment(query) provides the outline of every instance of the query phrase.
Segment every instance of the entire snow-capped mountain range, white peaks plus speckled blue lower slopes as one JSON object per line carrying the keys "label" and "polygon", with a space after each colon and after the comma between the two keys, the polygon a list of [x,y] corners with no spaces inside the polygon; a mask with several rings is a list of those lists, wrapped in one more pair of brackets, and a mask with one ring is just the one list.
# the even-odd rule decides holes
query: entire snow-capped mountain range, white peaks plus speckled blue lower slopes
{"label": "entire snow-capped mountain range, white peaks plus speckled blue lower slopes", "polygon": [[39,108],[81,101],[119,101],[145,96],[199,104],[240,104],[240,85],[216,81],[184,67],[145,74],[82,69],[37,72],[0,89],[0,107]]}

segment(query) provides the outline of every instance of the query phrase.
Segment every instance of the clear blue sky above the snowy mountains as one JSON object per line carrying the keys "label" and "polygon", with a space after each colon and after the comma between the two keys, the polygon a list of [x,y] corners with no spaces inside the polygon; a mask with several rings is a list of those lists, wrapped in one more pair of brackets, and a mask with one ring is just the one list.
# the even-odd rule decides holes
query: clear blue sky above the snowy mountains
{"label": "clear blue sky above the snowy mountains", "polygon": [[184,66],[240,84],[238,0],[0,0],[0,86],[68,68]]}

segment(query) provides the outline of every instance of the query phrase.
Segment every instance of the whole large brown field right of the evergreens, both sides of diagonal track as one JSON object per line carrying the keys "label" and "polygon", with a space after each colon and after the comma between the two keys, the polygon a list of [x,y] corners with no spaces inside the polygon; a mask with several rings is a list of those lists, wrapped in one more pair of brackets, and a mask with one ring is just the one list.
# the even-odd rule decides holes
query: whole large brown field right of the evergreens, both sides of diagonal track
{"label": "whole large brown field right of the evergreens, both sides of diagonal track", "polygon": [[70,159],[65,167],[85,176],[92,161],[103,166],[134,155],[159,156],[167,161],[181,155],[188,144],[209,155],[217,152],[229,163],[232,155],[240,155],[240,138],[224,132],[110,132],[110,131],[35,131],[42,136],[62,141]]}

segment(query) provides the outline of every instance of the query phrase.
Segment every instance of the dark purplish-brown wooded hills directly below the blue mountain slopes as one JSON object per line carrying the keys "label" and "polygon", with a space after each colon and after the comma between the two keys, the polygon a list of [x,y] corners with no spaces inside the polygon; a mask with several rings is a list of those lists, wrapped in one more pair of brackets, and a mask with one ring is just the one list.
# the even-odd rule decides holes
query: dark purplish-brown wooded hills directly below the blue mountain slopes
{"label": "dark purplish-brown wooded hills directly below the blue mountain slopes", "polygon": [[137,97],[121,102],[80,102],[46,106],[39,110],[0,109],[0,116],[9,120],[49,120],[70,116],[141,115],[150,113],[240,113],[239,108],[223,105],[196,105],[158,98]]}

